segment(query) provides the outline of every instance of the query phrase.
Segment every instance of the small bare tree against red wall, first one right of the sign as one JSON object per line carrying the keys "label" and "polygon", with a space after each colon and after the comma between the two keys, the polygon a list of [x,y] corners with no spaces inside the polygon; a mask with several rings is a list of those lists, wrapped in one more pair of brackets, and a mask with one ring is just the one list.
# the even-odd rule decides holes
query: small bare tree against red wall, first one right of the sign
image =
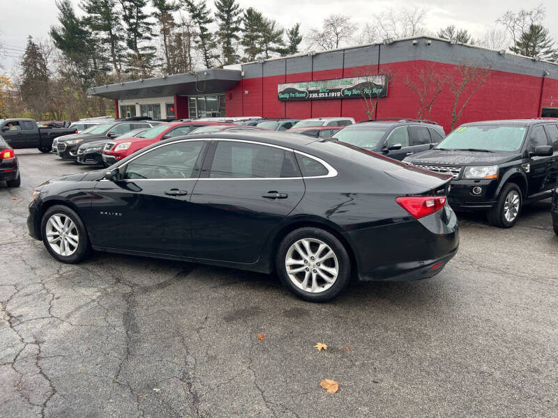
{"label": "small bare tree against red wall, first one right of the sign", "polygon": [[416,112],[417,119],[428,119],[432,111],[432,105],[444,86],[446,86],[447,79],[442,72],[436,69],[434,64],[428,65],[425,68],[416,69],[412,71],[416,77],[405,77],[405,86],[409,87],[416,95],[418,95],[418,111]]}

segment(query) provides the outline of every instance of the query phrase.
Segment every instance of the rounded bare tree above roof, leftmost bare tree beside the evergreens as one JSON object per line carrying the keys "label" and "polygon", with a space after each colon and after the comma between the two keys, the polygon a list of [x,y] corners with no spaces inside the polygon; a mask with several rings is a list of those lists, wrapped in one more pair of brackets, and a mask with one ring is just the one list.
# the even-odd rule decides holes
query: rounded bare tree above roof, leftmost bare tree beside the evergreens
{"label": "rounded bare tree above roof, leftmost bare tree beside the evergreens", "polygon": [[322,22],[322,29],[310,29],[306,39],[310,47],[318,47],[320,49],[336,49],[342,43],[352,40],[354,32],[358,26],[353,24],[348,16],[330,15]]}

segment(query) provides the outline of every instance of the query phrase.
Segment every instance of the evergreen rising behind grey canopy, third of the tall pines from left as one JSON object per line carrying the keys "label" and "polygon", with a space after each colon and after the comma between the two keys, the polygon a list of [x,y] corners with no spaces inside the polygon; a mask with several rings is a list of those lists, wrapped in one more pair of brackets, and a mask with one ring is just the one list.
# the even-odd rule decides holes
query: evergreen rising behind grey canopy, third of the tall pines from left
{"label": "evergreen rising behind grey canopy, third of the tall pines from left", "polygon": [[149,77],[155,48],[142,45],[153,38],[149,15],[144,11],[147,0],[119,0],[122,8],[122,20],[126,29],[126,47],[128,47],[128,72],[131,78]]}

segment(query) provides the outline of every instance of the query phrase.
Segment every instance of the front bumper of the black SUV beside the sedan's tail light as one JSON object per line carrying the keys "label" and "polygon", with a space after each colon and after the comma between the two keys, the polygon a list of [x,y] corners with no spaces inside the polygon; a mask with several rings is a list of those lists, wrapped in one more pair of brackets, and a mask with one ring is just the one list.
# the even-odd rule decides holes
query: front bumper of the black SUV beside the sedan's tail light
{"label": "front bumper of the black SUV beside the sedan's tail light", "polygon": [[[475,194],[475,187],[481,192]],[[498,201],[498,180],[451,180],[448,202],[455,210],[488,210]]]}

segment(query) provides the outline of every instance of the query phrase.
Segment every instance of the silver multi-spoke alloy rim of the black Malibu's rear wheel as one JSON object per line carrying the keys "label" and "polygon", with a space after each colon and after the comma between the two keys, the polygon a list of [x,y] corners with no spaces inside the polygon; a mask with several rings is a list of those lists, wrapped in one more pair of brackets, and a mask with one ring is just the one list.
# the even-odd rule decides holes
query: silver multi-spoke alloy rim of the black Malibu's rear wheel
{"label": "silver multi-spoke alloy rim of the black Malibu's rear wheel", "polygon": [[309,293],[328,290],[339,275],[335,251],[315,238],[303,238],[294,242],[287,250],[285,268],[292,283]]}

